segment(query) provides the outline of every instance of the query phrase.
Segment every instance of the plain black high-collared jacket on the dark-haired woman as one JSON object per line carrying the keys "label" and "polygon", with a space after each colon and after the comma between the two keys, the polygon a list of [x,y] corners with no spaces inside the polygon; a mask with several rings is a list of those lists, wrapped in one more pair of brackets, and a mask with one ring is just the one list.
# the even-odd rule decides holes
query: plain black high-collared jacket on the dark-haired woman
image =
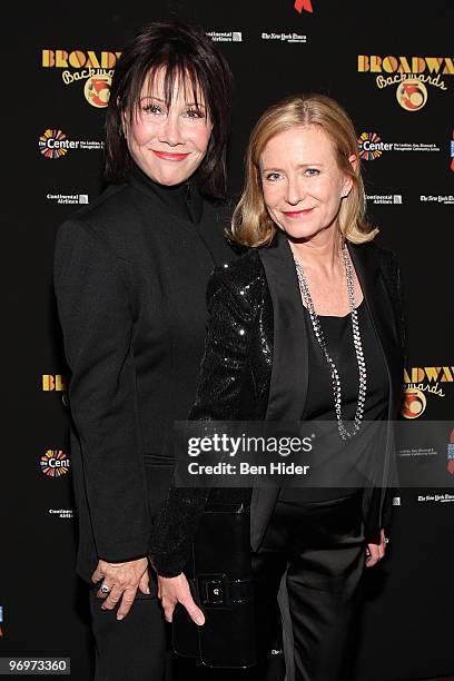
{"label": "plain black high-collared jacket on the dark-haired woman", "polygon": [[174,421],[194,403],[206,287],[234,256],[228,206],[193,187],[201,219],[172,214],[147,176],[108,188],[58,230],[55,290],[70,367],[78,571],[147,555],[171,480]]}

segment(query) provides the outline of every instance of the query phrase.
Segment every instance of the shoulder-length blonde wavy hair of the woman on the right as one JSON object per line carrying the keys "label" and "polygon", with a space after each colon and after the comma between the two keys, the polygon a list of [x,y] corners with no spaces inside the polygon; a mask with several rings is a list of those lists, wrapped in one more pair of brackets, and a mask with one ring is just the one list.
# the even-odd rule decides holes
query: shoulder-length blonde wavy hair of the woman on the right
{"label": "shoulder-length blonde wavy hair of the woman on the right", "polygon": [[[348,114],[325,95],[286,97],[269,107],[250,134],[246,152],[245,186],[235,208],[229,238],[245,246],[269,246],[278,227],[268,215],[260,180],[260,157],[268,141],[295,126],[319,126],[332,139],[338,168],[353,180],[340,203],[338,224],[343,239],[353,244],[371,241],[378,233],[366,219],[366,197],[361,175],[357,136]],[[348,158],[356,156],[354,168]]]}

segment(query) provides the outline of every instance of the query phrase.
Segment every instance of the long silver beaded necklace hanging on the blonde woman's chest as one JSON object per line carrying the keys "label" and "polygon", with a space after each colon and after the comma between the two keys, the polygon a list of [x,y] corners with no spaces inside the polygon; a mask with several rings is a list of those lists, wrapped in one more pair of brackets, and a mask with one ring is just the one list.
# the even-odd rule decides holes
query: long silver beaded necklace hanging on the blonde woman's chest
{"label": "long silver beaded necklace hanging on the blonde woman's chest", "polygon": [[352,437],[353,435],[355,435],[355,433],[359,431],[361,425],[362,425],[362,421],[364,416],[364,404],[366,402],[367,372],[366,372],[366,363],[364,361],[363,345],[361,342],[358,313],[357,313],[356,304],[355,304],[355,286],[354,286],[354,278],[353,278],[353,267],[352,267],[352,261],[349,259],[348,250],[346,246],[344,246],[343,248],[343,256],[344,256],[345,274],[346,274],[346,279],[347,279],[348,303],[349,303],[351,316],[352,316],[353,343],[355,346],[356,362],[358,365],[358,373],[359,373],[358,402],[356,406],[356,414],[355,414],[355,418],[353,422],[353,427],[351,431],[346,428],[344,421],[342,418],[340,376],[337,371],[336,364],[333,357],[329,355],[328,348],[326,347],[325,336],[324,336],[317,313],[315,312],[315,308],[314,308],[314,303],[310,296],[309,287],[307,285],[307,279],[304,275],[303,268],[299,265],[295,256],[294,256],[294,260],[295,260],[295,266],[296,266],[296,274],[298,276],[299,289],[303,296],[303,302],[305,303],[307,307],[307,312],[309,313],[315,337],[318,340],[318,345],[320,346],[322,352],[329,367],[329,373],[330,373],[330,378],[332,378],[332,384],[333,384],[333,393],[334,393],[334,407],[335,407],[336,418],[337,418],[337,428],[338,428],[340,438],[348,440],[348,437]]}

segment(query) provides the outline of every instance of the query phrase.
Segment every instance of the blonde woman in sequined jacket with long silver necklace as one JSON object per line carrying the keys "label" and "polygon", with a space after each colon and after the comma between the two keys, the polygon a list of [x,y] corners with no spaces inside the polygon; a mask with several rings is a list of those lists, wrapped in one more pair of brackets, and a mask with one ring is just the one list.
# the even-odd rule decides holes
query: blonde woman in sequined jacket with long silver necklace
{"label": "blonde woman in sequined jacket with long silver necklace", "polygon": [[[208,286],[190,420],[332,422],[330,465],[319,467],[316,485],[243,490],[255,681],[352,679],[364,568],[385,555],[405,324],[398,264],[365,218],[356,140],[347,112],[323,95],[267,109],[250,136],[231,223],[233,238],[249,249]],[[315,448],[312,467],[324,455]],[[170,488],[151,550],[169,621],[178,602],[200,618],[182,571],[207,500],[226,504],[238,492]]]}

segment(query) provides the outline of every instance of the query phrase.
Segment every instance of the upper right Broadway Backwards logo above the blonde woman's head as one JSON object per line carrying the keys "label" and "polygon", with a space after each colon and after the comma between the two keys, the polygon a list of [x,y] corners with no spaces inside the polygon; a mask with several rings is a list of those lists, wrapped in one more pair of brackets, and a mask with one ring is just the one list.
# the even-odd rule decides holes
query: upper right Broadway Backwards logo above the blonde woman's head
{"label": "upper right Broadway Backwards logo above the blonde woman's head", "polygon": [[358,72],[371,73],[379,89],[397,86],[396,99],[406,111],[420,111],[427,102],[428,87],[447,90],[454,76],[452,57],[394,57],[358,55]]}

